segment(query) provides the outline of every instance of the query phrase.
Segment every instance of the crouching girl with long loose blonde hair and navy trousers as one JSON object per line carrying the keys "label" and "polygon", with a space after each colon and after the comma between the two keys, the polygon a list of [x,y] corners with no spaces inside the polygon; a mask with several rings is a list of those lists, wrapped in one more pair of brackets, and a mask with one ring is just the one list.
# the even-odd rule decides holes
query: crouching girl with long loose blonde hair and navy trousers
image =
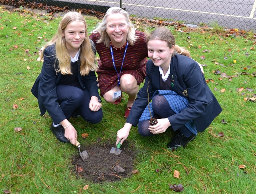
{"label": "crouching girl with long loose blonde hair and navy trousers", "polygon": [[68,121],[73,111],[91,123],[102,119],[92,48],[85,19],[77,12],[68,12],[40,56],[43,67],[31,92],[38,99],[41,115],[48,111],[52,117],[52,133],[64,143],[75,145],[77,138]]}

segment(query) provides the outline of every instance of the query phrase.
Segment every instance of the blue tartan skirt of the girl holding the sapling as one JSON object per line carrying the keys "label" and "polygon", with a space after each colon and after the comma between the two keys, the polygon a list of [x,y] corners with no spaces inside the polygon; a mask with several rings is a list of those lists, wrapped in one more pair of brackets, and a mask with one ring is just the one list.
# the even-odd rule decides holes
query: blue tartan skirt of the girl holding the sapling
{"label": "blue tartan skirt of the girl holding the sapling", "polygon": [[[179,96],[176,92],[174,92],[172,90],[156,90],[155,93],[153,94],[153,97],[155,95],[163,95],[165,97],[165,99],[167,100],[167,102],[169,103],[172,111],[175,112],[176,114],[180,113],[182,109],[188,107],[188,104],[189,104],[187,98]],[[149,103],[149,108],[151,111],[151,115],[153,117],[154,111],[153,111],[151,102]],[[149,120],[149,119],[150,119],[150,112],[149,112],[149,109],[147,106],[145,108],[145,110],[143,111],[139,122],[143,121],[143,120]],[[186,123],[185,126],[188,128],[188,130],[191,133],[193,133],[194,135],[197,135],[196,126],[195,126],[195,123],[193,120]]]}

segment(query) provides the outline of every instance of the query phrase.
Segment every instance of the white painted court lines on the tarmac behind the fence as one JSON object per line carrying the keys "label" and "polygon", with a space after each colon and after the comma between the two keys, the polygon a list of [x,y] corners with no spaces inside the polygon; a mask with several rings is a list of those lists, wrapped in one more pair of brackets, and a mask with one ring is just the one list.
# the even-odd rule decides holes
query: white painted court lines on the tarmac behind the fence
{"label": "white painted court lines on the tarmac behind the fence", "polygon": [[[118,4],[119,5],[119,3],[117,3],[117,2],[97,1],[97,0],[88,0],[88,1],[104,2],[104,3],[114,3],[114,4]],[[204,14],[219,15],[219,16],[230,16],[230,17],[234,17],[234,18],[256,19],[256,18],[253,18],[254,11],[255,11],[255,8],[256,8],[256,0],[254,1],[253,7],[252,7],[252,11],[251,11],[251,14],[250,14],[249,17],[229,15],[229,14],[222,14],[222,13],[212,13],[212,12],[205,12],[205,11],[182,10],[182,9],[174,9],[174,8],[167,8],[167,7],[153,7],[153,6],[148,6],[148,5],[125,4],[125,3],[123,3],[123,5],[133,5],[133,6],[138,6],[138,7],[150,7],[150,8],[158,8],[158,9],[165,9],[165,10],[175,10],[175,11],[186,11],[186,12],[194,12],[194,13],[204,13]]]}

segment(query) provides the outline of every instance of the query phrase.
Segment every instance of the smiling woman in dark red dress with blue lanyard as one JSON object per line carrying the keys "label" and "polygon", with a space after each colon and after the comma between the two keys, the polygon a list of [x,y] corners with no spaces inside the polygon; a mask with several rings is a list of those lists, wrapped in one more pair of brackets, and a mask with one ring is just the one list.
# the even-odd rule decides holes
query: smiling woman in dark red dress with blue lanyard
{"label": "smiling woman in dark red dress with blue lanyard", "polygon": [[121,101],[121,91],[128,94],[127,118],[140,83],[146,76],[146,34],[134,29],[129,15],[119,7],[106,12],[90,35],[100,56],[98,70],[100,95],[109,103]]}

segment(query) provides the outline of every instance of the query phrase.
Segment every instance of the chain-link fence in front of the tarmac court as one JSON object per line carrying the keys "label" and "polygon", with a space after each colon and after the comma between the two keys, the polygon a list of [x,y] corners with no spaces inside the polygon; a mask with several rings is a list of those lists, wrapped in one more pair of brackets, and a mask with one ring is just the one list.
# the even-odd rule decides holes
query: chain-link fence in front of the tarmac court
{"label": "chain-link fence in front of the tarmac court", "polygon": [[94,9],[106,12],[108,8],[123,7],[138,18],[179,21],[185,24],[214,25],[223,28],[256,30],[256,0],[26,0],[69,9]]}

